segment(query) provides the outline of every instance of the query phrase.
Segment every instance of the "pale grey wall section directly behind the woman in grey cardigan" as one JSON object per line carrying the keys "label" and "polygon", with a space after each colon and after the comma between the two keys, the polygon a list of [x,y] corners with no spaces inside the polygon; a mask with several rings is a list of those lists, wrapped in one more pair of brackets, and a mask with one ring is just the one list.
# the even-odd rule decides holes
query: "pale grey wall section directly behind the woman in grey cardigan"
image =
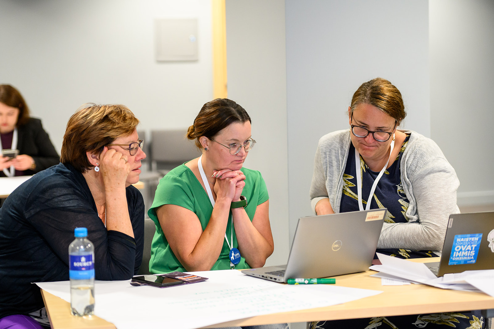
{"label": "pale grey wall section directly behind the woman in grey cardigan", "polygon": [[[290,237],[313,215],[319,138],[348,128],[353,93],[380,76],[401,92],[402,127],[430,136],[427,0],[286,0]],[[291,241],[291,240],[290,240]]]}

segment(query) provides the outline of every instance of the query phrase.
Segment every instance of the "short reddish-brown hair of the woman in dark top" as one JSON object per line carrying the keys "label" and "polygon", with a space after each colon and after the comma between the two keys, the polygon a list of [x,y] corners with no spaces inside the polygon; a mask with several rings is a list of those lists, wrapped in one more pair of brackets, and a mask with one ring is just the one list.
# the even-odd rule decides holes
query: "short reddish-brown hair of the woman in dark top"
{"label": "short reddish-brown hair of the woman in dark top", "polygon": [[101,153],[103,146],[132,134],[139,120],[124,105],[82,105],[69,119],[62,142],[60,162],[84,173],[93,166],[86,152]]}

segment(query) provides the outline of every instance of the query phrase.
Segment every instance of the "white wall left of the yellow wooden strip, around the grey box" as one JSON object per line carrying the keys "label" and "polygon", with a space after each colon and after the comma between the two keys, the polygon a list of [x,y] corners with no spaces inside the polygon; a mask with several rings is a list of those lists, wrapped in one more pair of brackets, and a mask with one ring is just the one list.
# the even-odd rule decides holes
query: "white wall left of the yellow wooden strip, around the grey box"
{"label": "white wall left of the yellow wooden strip, around the grey box", "polygon": [[[156,18],[198,18],[199,60],[156,62]],[[212,99],[210,0],[0,1],[0,30],[0,83],[58,150],[86,102],[124,104],[150,130],[188,127]]]}

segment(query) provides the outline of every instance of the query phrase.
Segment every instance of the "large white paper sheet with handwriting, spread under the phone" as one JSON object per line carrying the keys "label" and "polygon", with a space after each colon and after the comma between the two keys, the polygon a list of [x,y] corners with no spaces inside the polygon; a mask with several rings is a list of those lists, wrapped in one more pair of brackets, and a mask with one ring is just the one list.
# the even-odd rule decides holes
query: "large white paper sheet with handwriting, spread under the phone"
{"label": "large white paper sheet with handwriting, spread under the phone", "polygon": [[[199,328],[251,316],[330,306],[380,291],[334,285],[283,285],[236,270],[191,272],[205,282],[168,288],[95,282],[95,314],[118,329]],[[69,282],[37,285],[69,301]]]}

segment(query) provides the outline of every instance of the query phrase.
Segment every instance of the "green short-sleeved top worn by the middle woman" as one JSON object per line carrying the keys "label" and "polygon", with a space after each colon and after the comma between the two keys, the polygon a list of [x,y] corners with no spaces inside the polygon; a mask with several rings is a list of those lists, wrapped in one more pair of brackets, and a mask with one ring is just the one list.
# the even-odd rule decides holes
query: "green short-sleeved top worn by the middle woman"
{"label": "green short-sleeved top worn by the middle woman", "polygon": [[[247,207],[245,210],[250,221],[254,218],[257,205],[266,202],[269,199],[266,183],[261,176],[261,173],[256,170],[242,168],[242,172],[246,176],[246,185],[242,191],[247,199]],[[182,164],[171,170],[166,176],[161,179],[156,189],[153,205],[148,211],[149,218],[156,223],[156,233],[151,244],[151,260],[149,261],[149,270],[151,273],[169,273],[173,271],[186,272],[186,269],[178,261],[177,257],[171,251],[165,234],[156,216],[156,210],[165,204],[177,205],[194,212],[203,231],[209,222],[213,207],[206,191],[201,183],[197,180],[194,173],[185,164]],[[226,235],[228,242],[231,244],[231,212],[228,224],[226,226]],[[238,248],[237,236],[235,227],[233,230],[233,247]],[[223,237],[223,248],[221,249],[218,260],[214,263],[211,270],[224,270],[230,268],[229,258],[230,248]],[[246,263],[245,258],[241,257],[240,263],[235,265],[237,269],[250,268]]]}

